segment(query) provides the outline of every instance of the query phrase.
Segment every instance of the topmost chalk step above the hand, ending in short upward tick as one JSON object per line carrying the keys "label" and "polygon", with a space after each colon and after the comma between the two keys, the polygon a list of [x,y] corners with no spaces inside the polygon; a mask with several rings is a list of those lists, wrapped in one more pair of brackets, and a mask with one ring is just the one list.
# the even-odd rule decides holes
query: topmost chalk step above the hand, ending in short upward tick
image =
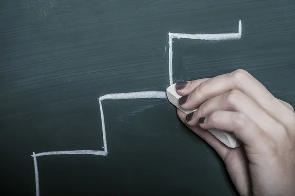
{"label": "topmost chalk step above the hand, ending in short upward tick", "polygon": [[242,37],[242,22],[239,21],[238,33],[219,33],[219,34],[186,34],[186,33],[170,33],[169,32],[169,82],[173,84],[173,68],[172,68],[172,43],[173,39],[194,39],[208,41],[224,41],[238,40]]}

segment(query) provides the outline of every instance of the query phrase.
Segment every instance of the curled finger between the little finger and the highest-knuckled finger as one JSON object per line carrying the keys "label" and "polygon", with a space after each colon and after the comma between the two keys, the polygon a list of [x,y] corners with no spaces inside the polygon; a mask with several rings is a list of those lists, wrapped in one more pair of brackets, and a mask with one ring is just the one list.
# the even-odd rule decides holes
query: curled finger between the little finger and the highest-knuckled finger
{"label": "curled finger between the little finger and the highest-knuckled finger", "polygon": [[238,90],[232,90],[205,101],[192,115],[186,118],[187,124],[195,126],[200,117],[205,117],[214,111],[235,111],[247,115],[262,130],[277,134],[282,124],[269,116],[253,99]]}

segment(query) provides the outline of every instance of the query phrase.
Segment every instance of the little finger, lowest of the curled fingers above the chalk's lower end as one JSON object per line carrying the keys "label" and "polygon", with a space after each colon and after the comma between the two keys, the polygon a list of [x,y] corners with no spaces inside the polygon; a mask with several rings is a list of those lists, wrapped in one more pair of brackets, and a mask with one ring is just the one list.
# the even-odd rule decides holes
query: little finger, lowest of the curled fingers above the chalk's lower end
{"label": "little finger, lowest of the curled fingers above the chalk's lower end", "polygon": [[240,112],[215,111],[207,117],[200,119],[203,129],[220,129],[232,132],[244,143],[245,147],[256,150],[266,149],[270,138],[247,115]]}

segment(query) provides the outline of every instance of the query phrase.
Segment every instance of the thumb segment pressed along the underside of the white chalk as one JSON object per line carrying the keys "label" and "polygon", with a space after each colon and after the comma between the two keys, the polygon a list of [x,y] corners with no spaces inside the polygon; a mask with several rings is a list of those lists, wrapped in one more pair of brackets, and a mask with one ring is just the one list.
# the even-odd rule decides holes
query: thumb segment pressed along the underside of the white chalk
{"label": "thumb segment pressed along the underside of the white chalk", "polygon": [[200,126],[189,126],[186,121],[185,117],[186,114],[181,110],[177,109],[177,115],[179,119],[195,134],[205,140],[214,150],[219,154],[220,157],[225,157],[228,150],[230,149],[226,145],[224,145],[220,140],[218,140],[214,135],[212,135],[209,131],[202,129]]}

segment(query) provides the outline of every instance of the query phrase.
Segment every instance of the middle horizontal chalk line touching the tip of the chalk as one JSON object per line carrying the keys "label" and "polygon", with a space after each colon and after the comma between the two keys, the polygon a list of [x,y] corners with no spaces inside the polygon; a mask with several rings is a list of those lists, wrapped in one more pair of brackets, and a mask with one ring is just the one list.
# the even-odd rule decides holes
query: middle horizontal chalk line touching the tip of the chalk
{"label": "middle horizontal chalk line touching the tip of the chalk", "polygon": [[162,98],[167,99],[165,91],[139,91],[131,93],[111,93],[99,97],[99,101],[103,100],[121,100],[121,99],[140,99],[140,98]]}

